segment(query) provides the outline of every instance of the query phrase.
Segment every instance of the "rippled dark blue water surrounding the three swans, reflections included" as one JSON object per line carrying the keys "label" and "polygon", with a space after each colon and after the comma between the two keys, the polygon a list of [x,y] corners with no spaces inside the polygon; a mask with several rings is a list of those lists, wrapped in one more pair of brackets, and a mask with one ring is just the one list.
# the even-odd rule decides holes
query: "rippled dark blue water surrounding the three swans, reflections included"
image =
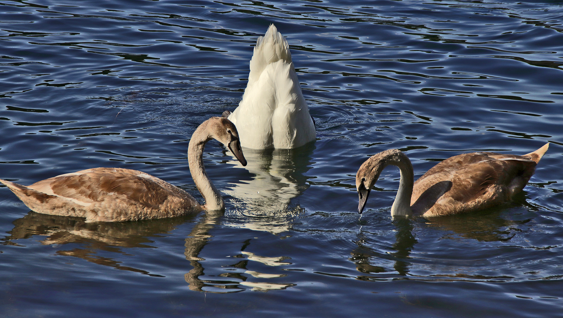
{"label": "rippled dark blue water surrounding the three swans, reflections included", "polygon": [[[205,148],[226,211],[84,224],[0,188],[2,317],[561,317],[563,2],[0,1],[0,178],[148,172],[201,199],[187,144],[238,105],[258,36],[287,37],[318,140]],[[399,148],[422,175],[551,146],[517,201],[361,218],[355,172]],[[260,193],[258,193],[260,192]]]}

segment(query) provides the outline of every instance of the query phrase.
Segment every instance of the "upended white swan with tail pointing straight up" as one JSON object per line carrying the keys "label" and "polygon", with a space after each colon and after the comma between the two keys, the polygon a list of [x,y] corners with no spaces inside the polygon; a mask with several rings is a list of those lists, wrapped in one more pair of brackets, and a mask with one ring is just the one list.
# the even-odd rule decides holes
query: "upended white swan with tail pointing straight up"
{"label": "upended white swan with tail pointing straight up", "polygon": [[228,118],[243,147],[297,148],[315,140],[287,40],[273,24],[256,42],[243,99]]}

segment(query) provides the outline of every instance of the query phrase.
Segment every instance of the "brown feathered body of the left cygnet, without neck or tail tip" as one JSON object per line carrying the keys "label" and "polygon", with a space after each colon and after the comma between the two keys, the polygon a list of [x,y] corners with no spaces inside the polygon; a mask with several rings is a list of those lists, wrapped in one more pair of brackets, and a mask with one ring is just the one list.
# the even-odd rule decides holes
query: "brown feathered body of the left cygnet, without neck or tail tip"
{"label": "brown feathered body of the left cygnet, without neck or tail tip", "polygon": [[[59,205],[32,210],[86,216],[87,221],[155,219],[201,210],[199,203],[184,190],[129,169],[82,170],[38,181],[28,188],[69,203],[65,211],[60,211]],[[45,212],[50,210],[53,211]]]}

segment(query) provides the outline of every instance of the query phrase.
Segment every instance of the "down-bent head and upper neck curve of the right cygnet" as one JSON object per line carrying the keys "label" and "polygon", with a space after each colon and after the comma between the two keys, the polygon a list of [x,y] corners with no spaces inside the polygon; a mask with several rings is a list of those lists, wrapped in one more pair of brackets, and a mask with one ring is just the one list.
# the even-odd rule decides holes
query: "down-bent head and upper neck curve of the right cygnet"
{"label": "down-bent head and upper neck curve of the right cygnet", "polygon": [[358,213],[364,210],[369,192],[379,179],[381,171],[388,165],[396,165],[401,157],[406,156],[399,149],[389,149],[369,157],[361,164],[356,173],[356,189],[358,189],[359,196]]}

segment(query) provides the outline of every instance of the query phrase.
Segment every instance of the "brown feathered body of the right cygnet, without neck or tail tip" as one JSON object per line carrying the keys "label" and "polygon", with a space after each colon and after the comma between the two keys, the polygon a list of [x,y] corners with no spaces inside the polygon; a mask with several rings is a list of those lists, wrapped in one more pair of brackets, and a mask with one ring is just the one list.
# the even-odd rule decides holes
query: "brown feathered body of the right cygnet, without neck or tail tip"
{"label": "brown feathered body of the right cygnet, without neck or tail tip", "polygon": [[[435,216],[452,214],[452,211],[470,212],[511,201],[533,175],[535,165],[529,157],[493,152],[448,158],[414,183],[413,211]],[[437,184],[442,186],[436,187]]]}

